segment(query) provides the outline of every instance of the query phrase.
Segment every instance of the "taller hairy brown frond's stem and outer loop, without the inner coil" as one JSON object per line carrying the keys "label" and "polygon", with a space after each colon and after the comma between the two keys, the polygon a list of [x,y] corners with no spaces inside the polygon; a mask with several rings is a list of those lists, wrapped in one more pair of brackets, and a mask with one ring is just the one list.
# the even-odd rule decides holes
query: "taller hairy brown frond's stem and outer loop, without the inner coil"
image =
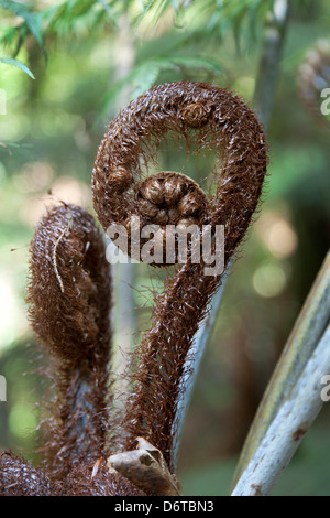
{"label": "taller hairy brown frond's stem and outer loop, without the inner coil", "polygon": [[[227,89],[169,83],[152,88],[122,110],[110,122],[96,157],[92,191],[98,217],[107,229],[139,214],[139,193],[144,192],[141,164],[147,163],[168,131],[219,158],[217,193],[199,223],[224,225],[227,266],[246,235],[267,165],[265,136],[254,112]],[[120,174],[130,176],[130,182],[118,187]],[[135,438],[143,436],[163,452],[172,470],[185,363],[220,283],[221,276],[204,274],[202,263],[184,265],[157,298],[152,328],[133,355],[133,393],[122,417],[121,446],[132,449]]]}

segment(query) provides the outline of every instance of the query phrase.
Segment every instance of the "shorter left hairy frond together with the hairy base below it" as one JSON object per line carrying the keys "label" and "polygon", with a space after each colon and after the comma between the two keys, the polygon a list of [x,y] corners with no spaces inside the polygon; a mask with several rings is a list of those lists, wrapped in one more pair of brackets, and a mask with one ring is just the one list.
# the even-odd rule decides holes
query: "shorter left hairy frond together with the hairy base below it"
{"label": "shorter left hairy frond together with the hairy base below it", "polygon": [[29,314],[56,395],[41,424],[45,467],[2,453],[0,494],[141,495],[106,466],[111,280],[102,236],[85,209],[62,204],[41,219],[30,252]]}

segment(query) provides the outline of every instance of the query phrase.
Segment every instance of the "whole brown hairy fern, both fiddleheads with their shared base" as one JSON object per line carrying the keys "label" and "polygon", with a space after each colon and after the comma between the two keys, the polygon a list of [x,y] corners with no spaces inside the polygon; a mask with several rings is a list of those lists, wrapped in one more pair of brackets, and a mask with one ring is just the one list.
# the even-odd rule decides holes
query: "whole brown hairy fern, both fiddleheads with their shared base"
{"label": "whole brown hairy fern, both fiddleheads with their shared base", "polygon": [[[198,152],[213,152],[216,194],[176,172],[145,176],[143,164],[169,132]],[[199,228],[210,224],[213,229],[222,224],[228,266],[257,207],[266,165],[265,136],[240,97],[204,83],[156,86],[110,122],[92,172],[95,208],[106,230],[122,224],[132,236],[134,227],[160,225],[163,246],[168,223]],[[152,484],[143,493],[107,466],[109,455],[133,451],[138,438],[163,454],[174,474],[183,375],[222,277],[205,276],[204,268],[188,256],[165,282],[155,300],[152,327],[131,356],[131,393],[125,407],[114,411],[108,365],[111,282],[102,238],[92,217],[79,207],[63,204],[48,212],[31,245],[29,304],[36,336],[52,356],[57,397],[43,421],[48,432],[44,467],[3,453],[1,494],[154,494]]]}

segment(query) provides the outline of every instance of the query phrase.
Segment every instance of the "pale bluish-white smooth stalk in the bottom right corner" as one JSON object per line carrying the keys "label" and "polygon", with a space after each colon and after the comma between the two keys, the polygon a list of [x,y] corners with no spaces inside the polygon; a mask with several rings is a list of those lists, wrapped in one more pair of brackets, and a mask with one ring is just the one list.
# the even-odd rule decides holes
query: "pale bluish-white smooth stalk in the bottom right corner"
{"label": "pale bluish-white smooth stalk in the bottom right corner", "polygon": [[232,496],[268,495],[322,408],[321,380],[330,371],[330,325],[298,378]]}

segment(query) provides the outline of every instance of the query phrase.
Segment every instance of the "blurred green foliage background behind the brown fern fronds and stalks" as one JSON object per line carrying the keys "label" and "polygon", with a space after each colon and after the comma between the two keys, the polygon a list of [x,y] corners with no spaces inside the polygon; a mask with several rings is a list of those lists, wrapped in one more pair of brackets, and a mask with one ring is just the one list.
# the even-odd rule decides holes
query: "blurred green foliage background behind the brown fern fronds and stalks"
{"label": "blurred green foliage background behind the brown fern fronds and stalks", "polygon": [[[270,79],[263,73],[274,4],[289,4],[289,15]],[[263,204],[228,281],[178,465],[186,495],[229,494],[257,403],[329,248],[330,119],[320,112],[320,91],[330,86],[330,4],[1,1],[0,13],[0,374],[8,390],[0,449],[32,462],[43,380],[24,295],[29,242],[45,206],[65,199],[92,212],[90,176],[106,126],[154,84],[228,87],[266,123]],[[206,161],[186,160],[180,147],[164,147],[160,161],[197,181],[206,176]],[[143,266],[117,272],[114,345],[131,327],[147,328],[148,290],[157,287],[150,273]],[[329,425],[326,404],[274,494],[330,495]]]}

